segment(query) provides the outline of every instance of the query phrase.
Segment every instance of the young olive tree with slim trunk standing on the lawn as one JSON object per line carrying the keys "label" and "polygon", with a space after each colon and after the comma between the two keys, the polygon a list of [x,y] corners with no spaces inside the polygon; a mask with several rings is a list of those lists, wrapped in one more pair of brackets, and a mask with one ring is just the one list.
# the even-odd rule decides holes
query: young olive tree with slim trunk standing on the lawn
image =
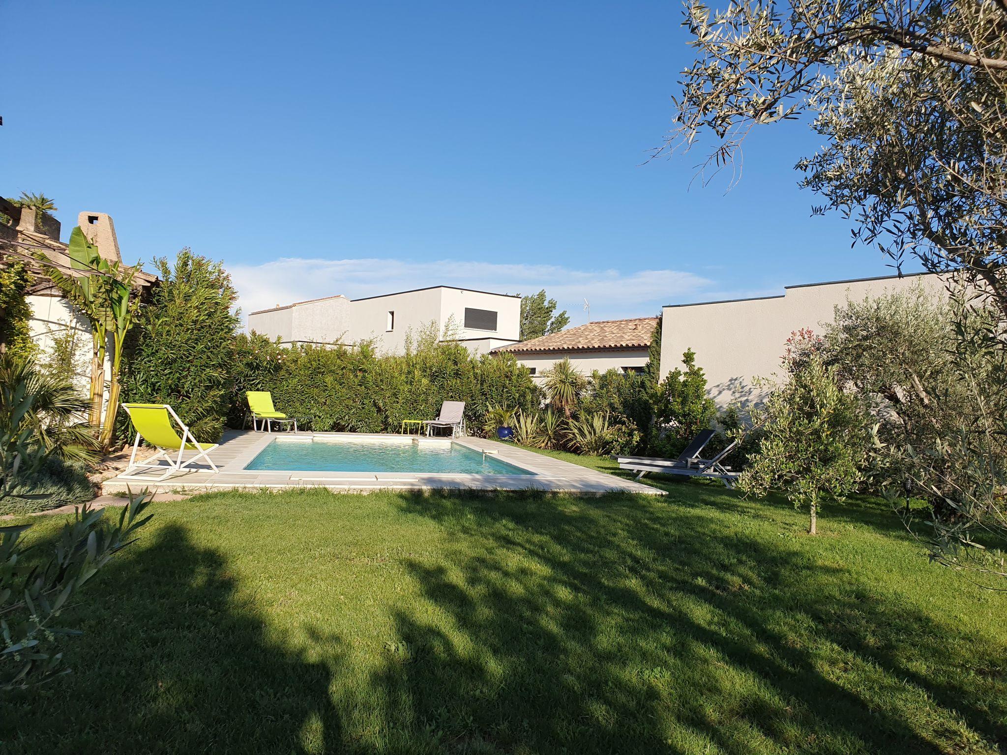
{"label": "young olive tree with slim trunk standing on the lawn", "polygon": [[816,535],[822,503],[842,500],[863,479],[867,412],[855,395],[840,389],[834,370],[812,355],[751,414],[763,435],[738,488],[755,495],[779,490],[796,507],[807,506],[809,533]]}

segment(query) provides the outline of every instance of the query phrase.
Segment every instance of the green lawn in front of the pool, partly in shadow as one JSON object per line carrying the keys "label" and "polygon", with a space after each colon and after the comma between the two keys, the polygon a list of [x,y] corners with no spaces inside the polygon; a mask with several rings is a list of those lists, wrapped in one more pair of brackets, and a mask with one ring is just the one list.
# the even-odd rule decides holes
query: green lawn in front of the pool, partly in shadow
{"label": "green lawn in front of the pool, partly in shadow", "polygon": [[1007,598],[928,565],[881,507],[827,509],[813,539],[785,503],[665,487],[155,504],[67,617],[76,672],[0,702],[0,752],[1007,742]]}

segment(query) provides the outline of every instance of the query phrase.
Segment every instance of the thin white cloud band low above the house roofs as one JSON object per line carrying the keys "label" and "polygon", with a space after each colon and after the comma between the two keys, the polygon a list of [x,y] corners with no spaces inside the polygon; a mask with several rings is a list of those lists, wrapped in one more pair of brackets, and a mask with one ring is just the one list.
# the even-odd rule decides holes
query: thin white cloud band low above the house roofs
{"label": "thin white cloud band low above the house roofs", "polygon": [[342,294],[350,299],[425,286],[457,286],[501,294],[546,289],[574,324],[591,319],[657,314],[683,297],[703,296],[712,282],[677,270],[579,270],[559,265],[518,265],[441,260],[282,258],[262,265],[229,265],[242,313],[305,299]]}

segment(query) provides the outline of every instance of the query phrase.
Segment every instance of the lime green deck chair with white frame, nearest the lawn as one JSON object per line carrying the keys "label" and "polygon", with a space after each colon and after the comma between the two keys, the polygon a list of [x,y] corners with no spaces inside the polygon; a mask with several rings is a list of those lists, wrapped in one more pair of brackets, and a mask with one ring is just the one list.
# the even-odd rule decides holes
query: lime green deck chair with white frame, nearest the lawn
{"label": "lime green deck chair with white frame, nearest the lawn", "polygon": [[[181,472],[197,459],[205,459],[213,472],[220,472],[213,460],[207,455],[218,447],[215,443],[199,443],[192,436],[192,433],[185,424],[178,419],[178,415],[167,404],[123,404],[122,408],[129,415],[133,429],[136,430],[136,440],[133,441],[133,453],[129,457],[129,466],[126,471],[119,475],[119,479],[144,480],[147,482],[160,482],[167,479],[173,472]],[[181,430],[179,438],[171,421]],[[157,449],[157,453],[146,461],[136,463],[136,450],[140,447],[140,439],[147,441]],[[178,455],[175,456],[174,452]],[[182,453],[185,451],[197,451],[194,456],[182,461]],[[159,462],[161,459],[168,462],[164,466]],[[144,469],[162,469],[164,473],[159,477],[147,477],[138,474]]]}

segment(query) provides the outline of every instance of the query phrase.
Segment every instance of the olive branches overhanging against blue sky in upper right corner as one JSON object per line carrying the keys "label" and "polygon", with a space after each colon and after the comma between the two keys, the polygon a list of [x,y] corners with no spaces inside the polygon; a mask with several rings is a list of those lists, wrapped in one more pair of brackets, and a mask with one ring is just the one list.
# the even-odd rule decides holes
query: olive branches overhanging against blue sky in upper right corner
{"label": "olive branches overhanging against blue sky in upper right corner", "polygon": [[805,115],[819,212],[896,263],[963,271],[1007,313],[1007,3],[690,0],[697,50],[668,147],[715,137],[729,164],[755,127]]}

